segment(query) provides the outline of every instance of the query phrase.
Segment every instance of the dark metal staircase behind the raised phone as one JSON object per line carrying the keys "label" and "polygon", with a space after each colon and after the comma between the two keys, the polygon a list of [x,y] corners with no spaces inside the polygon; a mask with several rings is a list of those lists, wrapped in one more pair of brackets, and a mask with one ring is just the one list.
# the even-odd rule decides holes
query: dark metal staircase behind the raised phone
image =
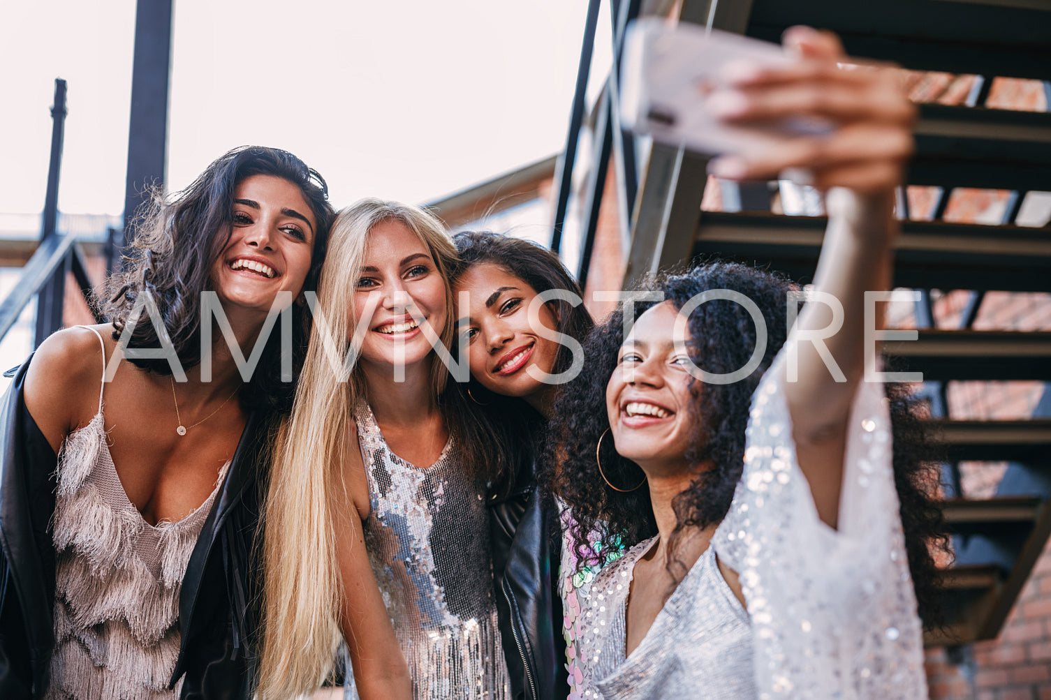
{"label": "dark metal staircase behind the raised phone", "polygon": [[[586,30],[594,33],[600,0],[592,0]],[[974,330],[971,325],[987,291],[1051,291],[1051,228],[1015,225],[1029,191],[1051,191],[1051,114],[985,107],[993,78],[1051,80],[1051,2],[1043,0],[682,0],[613,1],[614,47],[620,27],[637,14],[677,14],[680,21],[779,41],[794,24],[840,35],[851,56],[894,61],[912,70],[974,74],[962,105],[921,105],[916,156],[907,184],[941,188],[931,221],[912,221],[908,198],[899,198],[903,221],[895,254],[894,284],[923,290],[914,318],[920,339],[888,343],[885,353],[902,369],[925,375],[932,423],[945,441],[945,518],[953,533],[955,562],[943,572],[944,630],[930,644],[961,644],[997,635],[1051,535],[1051,392],[1033,415],[1016,420],[965,420],[948,412],[950,382],[1051,382],[1051,332]],[[590,52],[593,37],[585,37]],[[585,61],[581,60],[582,70]],[[584,80],[586,74],[584,73]],[[745,211],[702,211],[707,159],[681,149],[654,146],[640,158],[630,133],[619,129],[615,62],[607,89],[595,107],[591,170],[581,194],[585,229],[578,272],[583,279],[595,248],[597,207],[606,167],[617,178],[622,222],[625,285],[648,272],[699,258],[730,259],[769,266],[800,282],[813,274],[825,229],[821,217],[771,212],[767,183],[742,184]],[[1044,83],[1049,98],[1051,84]],[[581,95],[574,104],[566,148],[575,149],[581,124]],[[615,126],[616,125],[616,126]],[[619,147],[615,147],[619,146]],[[624,158],[624,153],[630,157]],[[611,162],[612,161],[612,162]],[[556,207],[565,211],[572,157],[561,164]],[[720,187],[735,187],[719,183]],[[1011,190],[1001,225],[943,220],[953,189]],[[564,215],[564,213],[562,213]],[[556,215],[553,248],[562,220]],[[630,224],[630,225],[628,225]],[[962,327],[935,328],[930,290],[972,290]],[[1051,302],[1049,302],[1051,307]],[[1051,308],[1047,318],[1051,327]],[[971,498],[961,489],[960,461],[1008,462],[996,494]]]}

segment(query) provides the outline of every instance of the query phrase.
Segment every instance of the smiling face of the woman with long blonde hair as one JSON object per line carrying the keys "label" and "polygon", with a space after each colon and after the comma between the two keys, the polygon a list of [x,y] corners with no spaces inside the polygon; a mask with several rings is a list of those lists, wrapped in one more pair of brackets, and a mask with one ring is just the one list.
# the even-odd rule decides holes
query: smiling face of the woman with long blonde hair
{"label": "smiling face of the woman with long blonde hair", "polygon": [[446,300],[446,281],[427,245],[400,221],[376,224],[369,231],[354,293],[354,325],[364,329],[363,366],[404,362],[409,367],[427,358],[432,347],[417,320],[439,336],[448,313]]}

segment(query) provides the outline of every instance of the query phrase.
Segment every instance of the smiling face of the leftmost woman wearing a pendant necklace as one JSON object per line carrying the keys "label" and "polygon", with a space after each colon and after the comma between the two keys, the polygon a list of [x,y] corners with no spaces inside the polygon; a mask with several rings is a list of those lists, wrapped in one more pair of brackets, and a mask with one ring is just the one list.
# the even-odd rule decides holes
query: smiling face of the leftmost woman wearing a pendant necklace
{"label": "smiling face of the leftmost woman wearing a pendant necklace", "polygon": [[297,296],[310,271],[317,223],[297,185],[276,176],[245,178],[233,190],[230,238],[211,268],[229,313],[267,313],[279,291]]}

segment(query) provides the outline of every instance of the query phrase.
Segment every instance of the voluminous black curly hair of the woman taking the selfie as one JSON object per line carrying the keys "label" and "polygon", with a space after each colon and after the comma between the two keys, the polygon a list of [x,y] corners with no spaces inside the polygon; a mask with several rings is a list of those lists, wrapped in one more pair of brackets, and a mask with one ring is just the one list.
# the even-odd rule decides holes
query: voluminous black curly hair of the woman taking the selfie
{"label": "voluminous black curly hair of the woman taking the selfie", "polygon": [[[673,565],[678,536],[686,528],[706,528],[725,517],[744,467],[745,429],[751,394],[786,339],[787,292],[796,286],[786,277],[736,263],[710,263],[681,274],[650,280],[645,289],[664,293],[677,308],[709,289],[741,292],[759,307],[766,322],[766,351],[759,367],[746,378],[725,385],[699,384],[693,387],[692,411],[695,426],[686,456],[693,464],[710,461],[713,469],[701,473],[673,499],[677,523],[669,541]],[[636,303],[636,317],[658,302]],[[595,460],[599,438],[610,427],[605,409],[605,387],[617,363],[623,342],[621,307],[584,344],[588,364],[574,382],[565,385],[556,399],[550,439],[541,460],[540,479],[545,489],[572,508],[579,527],[573,533],[574,547],[584,554],[580,567],[588,565],[592,542],[589,533],[601,532],[602,551],[619,543],[633,544],[657,534],[648,489],[630,493],[611,489],[599,474]],[[691,359],[713,373],[729,373],[747,364],[756,347],[756,325],[748,311],[730,301],[709,301],[694,310],[688,320]],[[936,570],[931,545],[948,551],[942,513],[933,500],[940,472],[925,461],[929,454],[915,402],[902,387],[888,387],[894,437],[894,480],[901,500],[902,524],[921,616],[926,624],[936,624]],[[635,485],[642,472],[638,465],[621,457],[612,440],[602,445],[602,470],[615,485]],[[623,488],[628,488],[624,486]],[[605,526],[596,529],[596,524]],[[593,535],[594,536],[594,535]],[[676,574],[681,578],[681,571]]]}

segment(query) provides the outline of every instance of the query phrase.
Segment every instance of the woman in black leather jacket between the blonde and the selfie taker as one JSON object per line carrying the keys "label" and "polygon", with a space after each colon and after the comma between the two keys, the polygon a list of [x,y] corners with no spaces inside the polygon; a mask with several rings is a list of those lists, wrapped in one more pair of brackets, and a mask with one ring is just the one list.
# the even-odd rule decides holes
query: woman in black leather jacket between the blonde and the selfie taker
{"label": "woman in black leather jacket between the blonde and the selfie taker", "polygon": [[[559,596],[560,523],[536,489],[533,455],[555,391],[579,365],[578,339],[594,326],[580,287],[558,256],[490,232],[454,236],[458,332],[467,334],[469,396],[514,436],[521,457],[506,494],[493,495],[493,572],[512,689],[527,700],[565,698],[565,641]],[[574,351],[574,346],[576,351]],[[502,595],[501,595],[502,593]]]}

